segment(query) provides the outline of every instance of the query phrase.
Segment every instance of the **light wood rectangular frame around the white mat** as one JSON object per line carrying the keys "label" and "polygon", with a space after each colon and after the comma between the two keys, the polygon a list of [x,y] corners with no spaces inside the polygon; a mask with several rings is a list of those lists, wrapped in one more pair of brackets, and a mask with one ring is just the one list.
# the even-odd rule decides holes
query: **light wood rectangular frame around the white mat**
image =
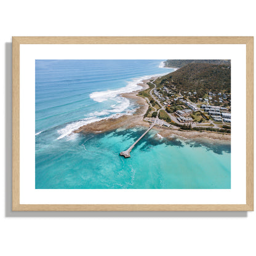
{"label": "light wood rectangular frame around the white mat", "polygon": [[[20,204],[20,44],[246,44],[246,204]],[[254,210],[253,37],[13,37],[12,210],[14,211],[247,211]]]}

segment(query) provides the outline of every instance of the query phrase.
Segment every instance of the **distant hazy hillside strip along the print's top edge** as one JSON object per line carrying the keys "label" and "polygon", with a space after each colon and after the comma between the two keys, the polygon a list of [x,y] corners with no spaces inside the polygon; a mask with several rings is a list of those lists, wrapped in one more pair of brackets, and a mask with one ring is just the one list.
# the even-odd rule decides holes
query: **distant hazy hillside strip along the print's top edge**
{"label": "distant hazy hillside strip along the print's top edge", "polygon": [[169,68],[182,68],[191,63],[207,63],[214,65],[230,65],[230,60],[166,60],[164,64]]}

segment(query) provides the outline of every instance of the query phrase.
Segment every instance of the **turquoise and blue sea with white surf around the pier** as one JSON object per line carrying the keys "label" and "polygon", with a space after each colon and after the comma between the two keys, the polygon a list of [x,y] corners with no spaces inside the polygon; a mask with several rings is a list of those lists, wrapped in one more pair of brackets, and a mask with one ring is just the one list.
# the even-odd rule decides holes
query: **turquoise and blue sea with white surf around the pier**
{"label": "turquoise and blue sea with white surf around the pier", "polygon": [[159,138],[145,127],[73,134],[90,122],[132,114],[121,97],[165,74],[162,60],[36,60],[36,188],[230,188],[231,146]]}

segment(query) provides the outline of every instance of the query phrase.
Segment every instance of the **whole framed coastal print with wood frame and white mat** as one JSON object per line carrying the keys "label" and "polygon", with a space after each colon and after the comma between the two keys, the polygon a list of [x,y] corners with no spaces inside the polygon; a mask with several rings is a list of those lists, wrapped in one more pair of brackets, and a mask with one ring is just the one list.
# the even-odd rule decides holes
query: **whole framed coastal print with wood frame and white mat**
{"label": "whole framed coastal print with wood frame and white mat", "polygon": [[253,210],[253,57],[252,37],[12,38],[12,210]]}

